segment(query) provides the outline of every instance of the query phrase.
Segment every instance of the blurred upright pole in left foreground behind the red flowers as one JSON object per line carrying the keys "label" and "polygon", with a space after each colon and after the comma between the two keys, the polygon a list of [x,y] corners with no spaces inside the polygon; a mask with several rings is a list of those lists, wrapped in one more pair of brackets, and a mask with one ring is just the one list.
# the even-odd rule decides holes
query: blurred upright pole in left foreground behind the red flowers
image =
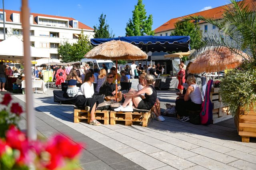
{"label": "blurred upright pole in left foreground behind the red flowers", "polygon": [[23,42],[24,42],[24,67],[26,70],[25,82],[26,82],[26,117],[27,117],[27,136],[29,140],[36,140],[36,128],[35,128],[35,112],[34,101],[32,96],[32,81],[30,75],[30,24],[29,17],[30,12],[28,8],[28,0],[22,0],[22,29],[23,29]]}

